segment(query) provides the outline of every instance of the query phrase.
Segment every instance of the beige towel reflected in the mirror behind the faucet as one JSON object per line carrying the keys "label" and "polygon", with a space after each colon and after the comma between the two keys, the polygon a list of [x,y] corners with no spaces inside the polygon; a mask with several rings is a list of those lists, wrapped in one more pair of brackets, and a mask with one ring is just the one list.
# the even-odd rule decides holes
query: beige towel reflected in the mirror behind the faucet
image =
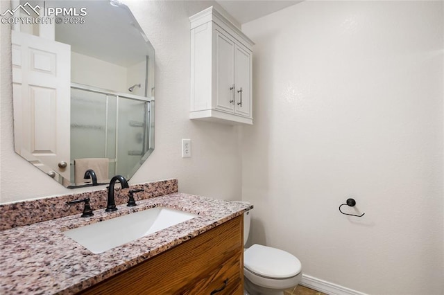
{"label": "beige towel reflected in the mirror behind the faucet", "polygon": [[91,179],[83,179],[86,170],[92,169],[96,172],[97,182],[108,182],[108,158],[83,158],[74,160],[74,181],[76,185],[91,183]]}

